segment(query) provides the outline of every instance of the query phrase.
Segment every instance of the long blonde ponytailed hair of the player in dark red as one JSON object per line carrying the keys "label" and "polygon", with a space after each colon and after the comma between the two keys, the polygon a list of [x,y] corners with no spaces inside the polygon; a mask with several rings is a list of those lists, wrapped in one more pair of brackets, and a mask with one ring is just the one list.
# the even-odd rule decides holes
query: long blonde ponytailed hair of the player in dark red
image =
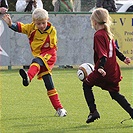
{"label": "long blonde ponytailed hair of the player in dark red", "polygon": [[91,23],[93,25],[93,21],[95,20],[98,24],[104,25],[104,29],[108,33],[109,39],[113,39],[113,34],[110,30],[110,26],[112,24],[111,17],[109,12],[104,8],[97,8],[93,11],[91,15]]}

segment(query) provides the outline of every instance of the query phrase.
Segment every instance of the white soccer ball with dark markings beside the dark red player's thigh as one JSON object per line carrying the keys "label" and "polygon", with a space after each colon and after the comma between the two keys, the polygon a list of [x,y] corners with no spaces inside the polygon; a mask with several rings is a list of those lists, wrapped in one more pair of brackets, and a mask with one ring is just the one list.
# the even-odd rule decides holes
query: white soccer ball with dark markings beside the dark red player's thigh
{"label": "white soccer ball with dark markings beside the dark red player's thigh", "polygon": [[92,71],[94,71],[94,66],[91,63],[83,63],[78,68],[77,76],[83,81]]}

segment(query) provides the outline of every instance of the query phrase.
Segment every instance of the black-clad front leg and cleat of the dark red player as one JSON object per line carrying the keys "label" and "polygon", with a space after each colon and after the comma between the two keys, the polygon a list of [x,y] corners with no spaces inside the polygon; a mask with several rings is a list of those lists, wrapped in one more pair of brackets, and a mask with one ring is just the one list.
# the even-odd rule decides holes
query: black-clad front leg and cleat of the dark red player
{"label": "black-clad front leg and cleat of the dark red player", "polygon": [[90,110],[90,114],[86,120],[86,123],[94,122],[94,120],[100,118],[100,115],[96,109],[95,99],[90,87],[86,82],[83,83],[84,97]]}

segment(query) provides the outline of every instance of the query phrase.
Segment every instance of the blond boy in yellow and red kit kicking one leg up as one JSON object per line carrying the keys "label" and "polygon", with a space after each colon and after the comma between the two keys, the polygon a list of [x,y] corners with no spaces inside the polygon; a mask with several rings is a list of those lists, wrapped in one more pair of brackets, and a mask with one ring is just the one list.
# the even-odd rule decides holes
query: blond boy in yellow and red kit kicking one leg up
{"label": "blond boy in yellow and red kit kicking one leg up", "polygon": [[48,97],[58,116],[66,116],[67,112],[59,100],[51,77],[51,71],[57,58],[57,34],[55,27],[48,21],[48,12],[36,8],[32,13],[33,22],[28,24],[12,23],[9,14],[5,14],[3,19],[12,30],[26,34],[29,38],[34,59],[27,72],[24,69],[19,70],[23,85],[28,86],[37,74],[38,79],[43,79]]}

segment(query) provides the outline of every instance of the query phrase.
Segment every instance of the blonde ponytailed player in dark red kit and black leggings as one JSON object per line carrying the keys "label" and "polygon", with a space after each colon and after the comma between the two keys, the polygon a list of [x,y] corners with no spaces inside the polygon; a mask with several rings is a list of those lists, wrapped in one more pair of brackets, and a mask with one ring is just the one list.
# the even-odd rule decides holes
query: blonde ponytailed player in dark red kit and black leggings
{"label": "blonde ponytailed player in dark red kit and black leggings", "polygon": [[96,30],[94,34],[95,70],[83,82],[84,96],[90,110],[86,123],[94,122],[100,118],[92,91],[94,85],[107,90],[111,98],[133,119],[133,108],[126,98],[119,93],[121,72],[116,56],[127,65],[130,63],[130,58],[125,57],[114,43],[113,34],[110,30],[111,18],[106,9],[95,9],[91,15],[91,23]]}

